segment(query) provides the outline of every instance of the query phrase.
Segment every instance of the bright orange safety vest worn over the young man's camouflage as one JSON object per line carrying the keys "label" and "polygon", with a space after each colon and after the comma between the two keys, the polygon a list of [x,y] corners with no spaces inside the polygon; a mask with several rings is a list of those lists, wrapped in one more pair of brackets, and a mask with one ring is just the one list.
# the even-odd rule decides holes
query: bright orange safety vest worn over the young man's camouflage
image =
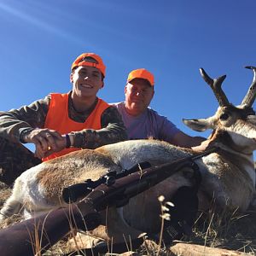
{"label": "bright orange safety vest worn over the young man's camouflage", "polygon": [[[44,128],[58,131],[61,134],[66,134],[71,131],[81,131],[83,129],[99,130],[102,128],[102,113],[110,107],[107,102],[98,98],[96,108],[90,113],[89,117],[84,123],[78,123],[68,117],[68,94],[51,93],[50,96],[49,110],[45,119]],[[79,149],[82,148],[64,148],[59,152],[50,154],[42,160],[54,159]]]}

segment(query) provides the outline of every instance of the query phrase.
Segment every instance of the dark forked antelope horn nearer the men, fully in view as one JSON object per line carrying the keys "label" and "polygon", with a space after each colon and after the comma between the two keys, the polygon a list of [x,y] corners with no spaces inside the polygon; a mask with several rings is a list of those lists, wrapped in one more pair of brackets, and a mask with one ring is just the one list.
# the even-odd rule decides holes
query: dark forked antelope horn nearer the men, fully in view
{"label": "dark forked antelope horn nearer the men, fully in view", "polygon": [[224,107],[230,105],[230,102],[225,96],[224,91],[221,89],[221,84],[223,83],[226,76],[219,77],[218,79],[211,79],[203,68],[200,68],[200,73],[202,78],[209,84],[212,88],[214,95],[216,96],[219,106]]}

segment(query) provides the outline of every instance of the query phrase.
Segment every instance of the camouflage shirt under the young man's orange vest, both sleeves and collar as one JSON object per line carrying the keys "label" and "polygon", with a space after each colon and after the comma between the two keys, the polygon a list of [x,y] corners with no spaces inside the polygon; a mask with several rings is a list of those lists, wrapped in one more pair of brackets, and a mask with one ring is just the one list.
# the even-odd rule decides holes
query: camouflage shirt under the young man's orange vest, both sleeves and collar
{"label": "camouflage shirt under the young man's orange vest, both sleeves and collar", "polygon": [[[34,128],[44,128],[44,122],[49,109],[50,95],[44,99],[32,102],[19,109],[0,112],[0,136],[14,143],[23,143],[22,134]],[[68,100],[68,115],[76,122],[84,122],[91,111],[80,113],[73,108],[71,93]],[[107,108],[102,113],[102,129],[84,129],[73,131],[76,148],[98,148],[109,143],[117,143],[127,139],[125,125],[118,110]]]}

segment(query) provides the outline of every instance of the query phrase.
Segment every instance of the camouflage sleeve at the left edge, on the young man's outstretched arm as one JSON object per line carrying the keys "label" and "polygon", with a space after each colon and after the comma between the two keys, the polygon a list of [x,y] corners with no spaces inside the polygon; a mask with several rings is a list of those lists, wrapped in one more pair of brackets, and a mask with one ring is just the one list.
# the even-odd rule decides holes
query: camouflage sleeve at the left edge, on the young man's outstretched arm
{"label": "camouflage sleeve at the left edge, on the young man's outstretched arm", "polygon": [[50,96],[46,96],[28,106],[0,112],[0,136],[14,143],[20,143],[22,133],[44,127],[49,101]]}

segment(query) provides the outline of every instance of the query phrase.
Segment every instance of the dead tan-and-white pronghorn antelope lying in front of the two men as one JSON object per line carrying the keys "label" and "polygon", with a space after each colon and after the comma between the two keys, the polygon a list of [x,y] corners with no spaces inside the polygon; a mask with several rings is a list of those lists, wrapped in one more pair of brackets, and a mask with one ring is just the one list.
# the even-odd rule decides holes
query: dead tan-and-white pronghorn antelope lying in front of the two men
{"label": "dead tan-and-white pronghorn antelope lying in front of the two men", "polygon": [[[221,89],[225,76],[211,79],[201,69],[203,79],[209,84],[218,99],[217,112],[208,119],[186,119],[183,122],[195,131],[212,129],[208,147],[218,146],[218,152],[196,160],[202,175],[200,189],[201,208],[207,206],[214,196],[218,209],[237,207],[245,211],[253,201],[255,171],[253,150],[256,149],[256,116],[253,111],[256,86],[256,67],[253,69],[253,84],[241,105],[235,107]],[[74,183],[91,178],[97,179],[109,170],[128,169],[140,162],[152,165],[170,162],[195,154],[190,149],[179,148],[156,140],[134,140],[84,149],[46,161],[22,173],[15,181],[12,195],[1,210],[1,219],[20,211],[26,217],[31,212],[43,212],[61,207],[61,190]],[[188,172],[188,170],[186,171]],[[108,210],[108,236],[96,232],[97,236],[110,236],[123,241],[123,234],[138,236],[142,232],[157,232],[160,229],[160,207],[157,197],[172,198],[175,191],[184,185],[191,186],[193,180],[184,170],[177,172],[164,182],[134,197],[128,205],[116,211]],[[103,230],[103,227],[101,227]]]}

